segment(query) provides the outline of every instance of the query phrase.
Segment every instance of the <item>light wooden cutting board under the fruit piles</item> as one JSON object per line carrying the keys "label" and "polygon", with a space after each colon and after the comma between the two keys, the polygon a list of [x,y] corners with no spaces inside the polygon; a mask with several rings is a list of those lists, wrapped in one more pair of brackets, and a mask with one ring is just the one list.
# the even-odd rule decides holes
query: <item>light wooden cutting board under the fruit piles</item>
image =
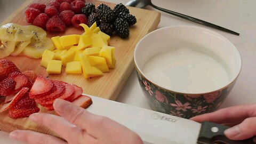
{"label": "light wooden cutting board under the fruit piles", "polygon": [[[45,0],[28,0],[22,4],[9,18],[4,20],[2,25],[5,23],[13,22],[20,25],[29,25],[25,19],[25,10],[27,5],[30,3],[49,3],[50,1]],[[96,1],[95,5],[98,6],[100,3],[105,3],[111,8],[115,4]],[[140,39],[157,28],[160,21],[161,14],[154,11],[138,9],[135,7],[129,7],[130,13],[135,15],[137,23],[130,27],[129,38],[122,39],[118,36],[113,36],[110,39],[110,46],[116,47],[115,57],[117,59],[116,68],[111,69],[109,73],[103,74],[100,77],[94,77],[91,79],[85,79],[82,74],[66,74],[65,68],[62,67],[62,73],[60,75],[48,75],[46,69],[39,66],[41,59],[31,59],[25,56],[19,57],[7,57],[6,59],[11,60],[17,65],[21,71],[35,70],[38,75],[49,76],[51,79],[58,79],[71,84],[76,84],[83,88],[83,92],[90,95],[96,95],[101,98],[115,100],[122,90],[127,78],[130,76],[134,65],[133,65],[133,52],[135,46]],[[75,29],[73,27],[67,28],[65,33],[47,33],[48,37],[69,35],[69,34],[82,34],[82,30]],[[41,112],[49,113],[41,107]],[[54,113],[54,112],[51,112]],[[36,125],[28,121],[27,118],[12,119],[7,116],[7,111],[0,114],[0,130],[11,132],[15,129],[22,130],[34,130],[38,132],[53,134],[50,130],[43,126]],[[54,135],[54,134],[53,134]]]}

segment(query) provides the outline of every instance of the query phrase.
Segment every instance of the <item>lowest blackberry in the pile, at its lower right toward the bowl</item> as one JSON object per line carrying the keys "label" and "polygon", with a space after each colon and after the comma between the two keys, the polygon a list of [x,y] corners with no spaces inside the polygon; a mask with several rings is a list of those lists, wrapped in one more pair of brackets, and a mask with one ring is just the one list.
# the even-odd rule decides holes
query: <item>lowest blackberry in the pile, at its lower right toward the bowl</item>
{"label": "lowest blackberry in the pile, at its lower right toward the bowl", "polygon": [[129,31],[129,24],[126,20],[122,18],[117,18],[115,20],[115,29],[116,33],[121,37],[121,38],[126,38],[129,36],[130,31]]}

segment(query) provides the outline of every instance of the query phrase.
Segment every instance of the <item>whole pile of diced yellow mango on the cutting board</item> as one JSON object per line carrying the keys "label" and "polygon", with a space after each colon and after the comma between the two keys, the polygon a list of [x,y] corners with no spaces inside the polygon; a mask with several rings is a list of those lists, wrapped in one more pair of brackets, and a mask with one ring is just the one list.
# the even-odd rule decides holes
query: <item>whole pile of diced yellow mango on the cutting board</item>
{"label": "whole pile of diced yellow mango on the cutting board", "polygon": [[108,46],[110,36],[100,31],[96,22],[89,28],[81,24],[85,32],[82,35],[52,37],[55,51],[45,50],[41,66],[49,74],[60,74],[61,66],[67,74],[83,74],[85,78],[100,76],[115,68],[115,47]]}

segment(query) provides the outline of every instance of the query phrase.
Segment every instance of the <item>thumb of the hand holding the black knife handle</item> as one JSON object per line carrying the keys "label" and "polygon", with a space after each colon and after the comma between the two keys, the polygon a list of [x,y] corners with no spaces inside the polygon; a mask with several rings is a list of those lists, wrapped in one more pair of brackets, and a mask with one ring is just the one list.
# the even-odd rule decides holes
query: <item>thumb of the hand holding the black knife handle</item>
{"label": "thumb of the hand holding the black knife handle", "polygon": [[230,140],[244,140],[256,134],[256,117],[244,119],[241,124],[227,129],[224,133]]}

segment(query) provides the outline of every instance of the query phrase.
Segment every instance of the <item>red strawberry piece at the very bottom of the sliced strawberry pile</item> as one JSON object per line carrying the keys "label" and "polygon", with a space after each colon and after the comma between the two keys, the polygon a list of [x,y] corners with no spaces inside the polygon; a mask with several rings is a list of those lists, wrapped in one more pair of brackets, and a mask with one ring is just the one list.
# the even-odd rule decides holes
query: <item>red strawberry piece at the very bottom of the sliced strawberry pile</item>
{"label": "red strawberry piece at the very bottom of the sliced strawberry pile", "polygon": [[29,109],[10,109],[9,111],[9,116],[11,118],[17,119],[17,118],[23,118],[23,117],[28,117],[31,114],[38,113],[40,109],[38,107],[35,108],[29,108]]}

